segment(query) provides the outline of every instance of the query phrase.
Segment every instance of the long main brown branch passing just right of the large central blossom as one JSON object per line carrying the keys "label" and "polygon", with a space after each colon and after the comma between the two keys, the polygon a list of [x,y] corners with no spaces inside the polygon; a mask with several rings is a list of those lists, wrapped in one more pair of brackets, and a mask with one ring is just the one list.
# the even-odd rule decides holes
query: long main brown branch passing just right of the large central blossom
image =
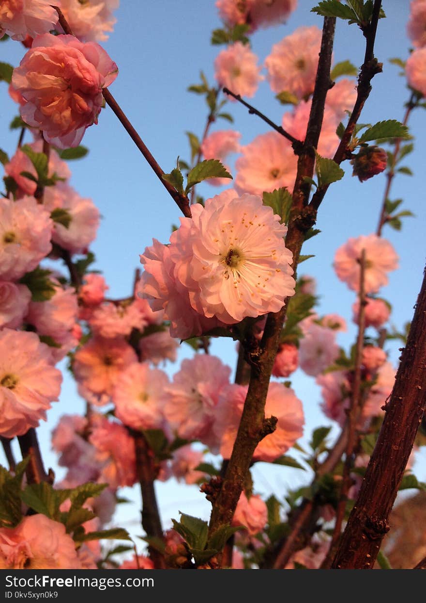
{"label": "long main brown branch passing just right of the large central blossom", "polygon": [[[293,268],[297,267],[298,256],[304,239],[304,233],[312,226],[312,215],[304,213],[306,191],[303,191],[304,176],[312,177],[315,153],[313,147],[318,144],[319,131],[324,114],[324,104],[330,86],[330,65],[332,58],[335,19],[324,19],[323,38],[319,53],[315,90],[310,110],[309,124],[303,151],[298,158],[297,177],[293,191],[293,209],[289,220],[286,247],[293,254]],[[314,125],[315,124],[315,127]],[[307,192],[309,194],[309,191]],[[315,218],[313,218],[315,221]],[[286,300],[287,301],[287,300]],[[259,346],[246,350],[252,363],[248,393],[242,411],[241,422],[235,444],[229,459],[226,474],[220,492],[215,500],[209,524],[209,534],[231,522],[244,481],[247,477],[253,452],[259,441],[268,434],[265,420],[265,400],[271,377],[274,359],[279,345],[279,336],[286,316],[286,303],[280,312],[271,313],[265,325],[264,335]]]}

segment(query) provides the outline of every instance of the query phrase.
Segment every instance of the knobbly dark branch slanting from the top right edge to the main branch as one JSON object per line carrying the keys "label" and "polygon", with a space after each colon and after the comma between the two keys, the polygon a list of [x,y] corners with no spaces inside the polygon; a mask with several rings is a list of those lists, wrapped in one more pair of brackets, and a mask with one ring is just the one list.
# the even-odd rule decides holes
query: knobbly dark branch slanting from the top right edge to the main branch
{"label": "knobbly dark branch slanting from the top right edge to the main branch", "polygon": [[[374,41],[380,6],[381,1],[375,0],[371,25],[364,32],[364,35],[366,36],[367,40],[366,51],[364,63],[361,67],[361,71],[358,77],[357,98],[351,116],[349,118],[348,125],[345,128],[338,149],[335,153],[335,156],[333,157],[333,160],[338,164],[342,163],[342,161],[349,158],[348,145],[354,133],[355,126],[361,115],[365,102],[369,96],[369,93],[371,92],[371,80],[376,74],[380,73],[382,70],[382,63],[378,63],[377,58],[374,58]],[[329,185],[324,185],[316,189],[315,193],[312,196],[312,200],[310,201],[310,206],[317,210],[321,204],[321,201],[323,201],[324,195],[326,194],[328,188]]]}

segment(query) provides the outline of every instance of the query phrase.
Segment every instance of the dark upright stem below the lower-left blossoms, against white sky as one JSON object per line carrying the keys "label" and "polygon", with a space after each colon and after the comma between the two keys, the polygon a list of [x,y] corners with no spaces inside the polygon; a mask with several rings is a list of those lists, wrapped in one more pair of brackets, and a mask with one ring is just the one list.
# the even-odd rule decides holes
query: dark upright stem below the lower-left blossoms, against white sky
{"label": "dark upright stem below the lower-left blossoms, against white sky", "polygon": [[[152,450],[141,432],[131,430],[135,440],[136,470],[142,495],[142,527],[148,537],[163,540],[161,519],[155,496],[154,480],[156,470]],[[164,569],[164,557],[153,546],[149,546],[149,555],[156,569]]]}

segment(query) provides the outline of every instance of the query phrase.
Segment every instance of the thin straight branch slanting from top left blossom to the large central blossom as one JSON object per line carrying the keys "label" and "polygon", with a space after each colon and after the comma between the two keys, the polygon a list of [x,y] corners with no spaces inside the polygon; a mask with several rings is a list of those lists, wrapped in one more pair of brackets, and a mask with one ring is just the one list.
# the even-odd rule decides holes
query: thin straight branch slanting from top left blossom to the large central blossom
{"label": "thin straight branch slanting from top left blossom to the large central blossom", "polygon": [[[64,17],[64,14],[62,13],[61,9],[57,6],[54,6],[54,8],[58,13],[59,23],[63,28],[64,32],[72,36],[72,30],[69,24],[67,23],[67,20]],[[176,191],[174,186],[171,186],[171,184],[168,183],[167,180],[164,180],[163,175],[165,172],[162,171],[162,169],[154,159],[153,155],[147,148],[146,144],[143,142],[135,128],[132,126],[131,122],[129,121],[129,119],[127,118],[127,116],[125,115],[122,108],[119,106],[111,92],[108,89],[103,88],[102,94],[103,98],[105,99],[105,103],[110,106],[110,108],[116,114],[117,118],[119,118],[120,123],[123,125],[126,132],[129,134],[137,148],[143,154],[144,158],[149,163],[153,172],[158,176],[160,182],[162,183],[168,194],[171,196],[171,198],[173,198],[173,200],[175,201],[181,212],[184,214],[184,216],[186,216],[187,218],[191,218],[190,201],[188,200],[188,197],[185,197],[185,195],[181,195],[179,192]]]}

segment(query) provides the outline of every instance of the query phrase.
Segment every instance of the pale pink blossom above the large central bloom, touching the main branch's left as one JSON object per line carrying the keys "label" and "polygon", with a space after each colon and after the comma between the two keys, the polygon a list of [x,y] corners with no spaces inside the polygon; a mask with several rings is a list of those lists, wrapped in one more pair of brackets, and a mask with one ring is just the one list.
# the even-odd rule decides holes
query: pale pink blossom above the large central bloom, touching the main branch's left
{"label": "pale pink blossom above the large central bloom, touching the main branch's left", "polygon": [[[304,137],[304,134],[303,134]],[[242,156],[235,162],[234,186],[239,194],[262,195],[264,191],[286,187],[292,191],[297,171],[297,157],[291,145],[278,132],[259,134],[241,147]]]}

